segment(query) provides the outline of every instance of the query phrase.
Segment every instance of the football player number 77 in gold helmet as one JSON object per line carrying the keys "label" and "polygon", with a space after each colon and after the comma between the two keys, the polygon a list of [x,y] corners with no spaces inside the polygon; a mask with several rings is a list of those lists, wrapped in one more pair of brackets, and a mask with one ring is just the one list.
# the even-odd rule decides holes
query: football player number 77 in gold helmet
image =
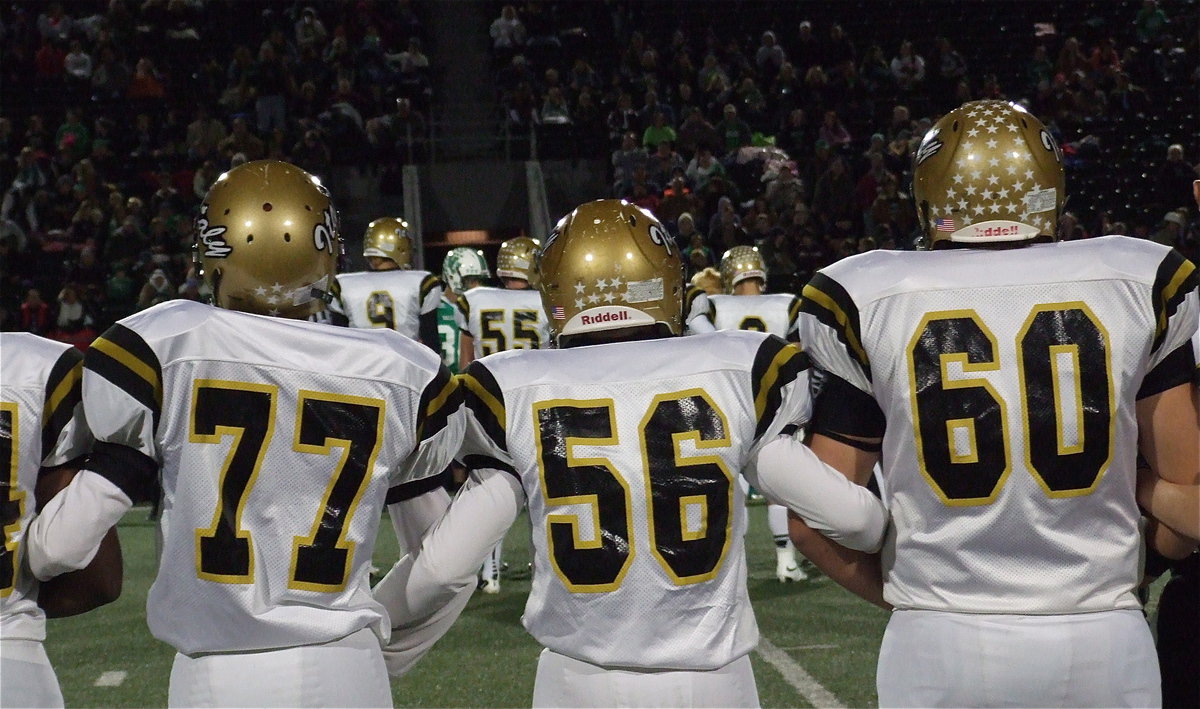
{"label": "football player number 77 in gold helmet", "polygon": [[96,533],[66,531],[160,499],[146,615],[178,650],[172,705],[391,705],[386,667],[408,659],[380,653],[395,624],[372,597],[371,553],[385,505],[408,545],[448,506],[457,381],[391,329],[304,320],[342,248],[329,192],[304,170],[224,173],[196,233],[217,307],[166,302],[88,350],[97,443],[32,525],[31,566],[72,567]]}

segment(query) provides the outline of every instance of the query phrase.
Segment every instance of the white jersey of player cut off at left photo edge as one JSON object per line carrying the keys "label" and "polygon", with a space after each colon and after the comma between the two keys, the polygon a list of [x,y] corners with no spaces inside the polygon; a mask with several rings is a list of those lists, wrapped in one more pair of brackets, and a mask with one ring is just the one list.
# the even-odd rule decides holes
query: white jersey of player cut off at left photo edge
{"label": "white jersey of player cut off at left photo edge", "polygon": [[0,637],[46,639],[37,579],[24,559],[25,528],[34,518],[38,471],[91,450],[79,405],[83,353],[26,332],[0,334]]}

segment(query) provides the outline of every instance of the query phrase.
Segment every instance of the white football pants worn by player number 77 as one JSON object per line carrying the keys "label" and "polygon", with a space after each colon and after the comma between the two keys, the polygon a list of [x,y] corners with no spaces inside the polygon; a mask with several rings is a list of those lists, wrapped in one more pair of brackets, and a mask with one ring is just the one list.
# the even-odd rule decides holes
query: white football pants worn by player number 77
{"label": "white football pants worn by player number 77", "polygon": [[175,654],[170,707],[391,707],[379,638],[362,629],[322,645]]}

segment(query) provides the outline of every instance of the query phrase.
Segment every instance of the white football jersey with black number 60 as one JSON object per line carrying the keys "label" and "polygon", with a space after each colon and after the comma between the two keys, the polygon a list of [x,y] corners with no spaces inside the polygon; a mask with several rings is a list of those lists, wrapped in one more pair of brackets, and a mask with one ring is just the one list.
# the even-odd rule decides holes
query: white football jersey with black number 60
{"label": "white football jersey with black number 60", "polygon": [[803,295],[814,365],[887,420],[888,602],[1139,607],[1134,402],[1196,328],[1190,262],[1124,236],[874,251]]}

